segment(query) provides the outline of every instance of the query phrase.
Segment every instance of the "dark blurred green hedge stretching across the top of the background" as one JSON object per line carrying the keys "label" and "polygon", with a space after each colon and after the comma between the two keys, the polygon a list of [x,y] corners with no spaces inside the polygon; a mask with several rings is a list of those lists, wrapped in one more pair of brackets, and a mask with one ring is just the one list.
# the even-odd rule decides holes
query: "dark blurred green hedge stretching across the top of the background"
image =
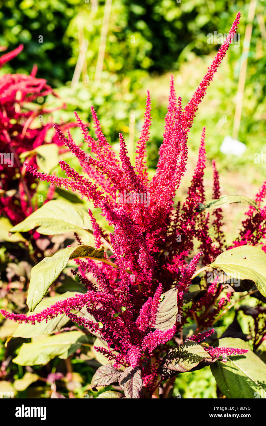
{"label": "dark blurred green hedge stretching across the top of the background", "polygon": [[[0,0],[0,44],[25,48],[16,69],[30,72],[38,63],[39,73],[52,86],[72,79],[81,38],[89,41],[87,68],[93,78],[98,56],[105,1],[89,0]],[[207,55],[219,46],[208,44],[207,34],[224,33],[240,10],[239,26],[244,35],[248,0],[113,0],[104,58],[104,69],[131,76],[136,69],[165,72],[179,69],[190,52]],[[257,14],[265,12],[265,1],[258,0]],[[43,41],[40,41],[40,36]],[[255,72],[265,67],[261,33],[254,21],[250,56]],[[257,58],[255,58],[257,56]],[[258,58],[258,56],[260,56]],[[256,60],[259,59],[259,67]],[[252,60],[253,63],[253,60]],[[264,94],[265,95],[265,94]]]}

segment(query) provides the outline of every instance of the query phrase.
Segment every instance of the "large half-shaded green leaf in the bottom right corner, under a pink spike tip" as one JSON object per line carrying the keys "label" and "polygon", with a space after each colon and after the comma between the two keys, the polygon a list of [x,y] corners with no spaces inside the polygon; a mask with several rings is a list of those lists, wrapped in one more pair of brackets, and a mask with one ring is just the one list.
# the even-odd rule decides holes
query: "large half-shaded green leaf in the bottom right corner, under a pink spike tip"
{"label": "large half-shaded green leaf in the bottom right corner, under a pink spike tip", "polygon": [[211,365],[211,372],[219,389],[227,398],[249,399],[259,393],[266,397],[266,365],[241,339],[225,337],[219,340],[219,347],[249,349],[243,355],[227,356],[227,362],[217,360]]}

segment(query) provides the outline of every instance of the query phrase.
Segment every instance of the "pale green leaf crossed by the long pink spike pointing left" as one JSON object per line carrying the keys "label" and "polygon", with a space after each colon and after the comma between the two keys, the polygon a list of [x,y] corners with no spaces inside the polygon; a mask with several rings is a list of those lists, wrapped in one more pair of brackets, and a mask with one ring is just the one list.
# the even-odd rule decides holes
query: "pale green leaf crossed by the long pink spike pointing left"
{"label": "pale green leaf crossed by the long pink spike pointing left", "polygon": [[[45,297],[35,308],[33,312],[28,312],[29,315],[37,314],[38,312],[43,311],[44,309],[49,308],[50,306],[54,305],[56,302],[59,302],[60,300],[68,299],[69,297],[75,296],[75,294],[81,294],[81,293],[73,293],[72,291],[67,291],[67,293],[58,295],[58,296],[52,296],[52,297]],[[57,331],[60,331],[64,325],[69,322],[69,318],[65,314],[59,314],[57,317],[53,318],[52,320],[41,321],[36,322],[35,325],[32,325],[30,323],[22,323],[20,324],[17,329],[13,333],[13,337],[23,337],[24,339],[34,337],[34,336],[40,336],[43,334],[52,334],[56,333]],[[1,329],[0,329],[1,330]]]}

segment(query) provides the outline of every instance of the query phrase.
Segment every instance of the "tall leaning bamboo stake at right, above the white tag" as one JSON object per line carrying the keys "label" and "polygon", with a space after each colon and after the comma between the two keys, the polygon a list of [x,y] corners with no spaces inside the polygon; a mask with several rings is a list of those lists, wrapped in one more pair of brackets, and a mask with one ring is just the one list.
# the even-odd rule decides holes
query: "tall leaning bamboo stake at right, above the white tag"
{"label": "tall leaning bamboo stake at right, above the white tag", "polygon": [[232,136],[234,139],[238,139],[238,134],[240,129],[243,97],[244,97],[245,82],[246,82],[246,70],[247,70],[247,64],[248,64],[250,40],[252,35],[252,23],[254,20],[255,10],[256,10],[256,1],[257,0],[251,0],[251,2],[249,3],[249,13],[248,13],[248,19],[247,19],[247,25],[246,25],[246,31],[245,31],[245,37],[244,37],[244,43],[243,43],[243,52],[242,52],[243,62],[241,64],[240,75],[238,80],[236,109],[234,113],[234,124],[233,124],[233,133],[232,133]]}

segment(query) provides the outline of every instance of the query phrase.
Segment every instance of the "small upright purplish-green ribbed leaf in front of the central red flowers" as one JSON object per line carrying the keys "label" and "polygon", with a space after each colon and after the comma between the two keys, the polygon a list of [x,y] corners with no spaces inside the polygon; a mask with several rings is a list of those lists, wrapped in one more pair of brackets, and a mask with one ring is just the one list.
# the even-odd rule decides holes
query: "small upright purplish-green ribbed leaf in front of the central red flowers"
{"label": "small upright purplish-green ribbed leaf in front of the central red flowers", "polygon": [[159,303],[159,309],[153,327],[164,331],[173,327],[176,322],[176,316],[178,313],[177,290],[175,288],[171,288],[171,290],[163,293],[162,297],[163,300]]}

